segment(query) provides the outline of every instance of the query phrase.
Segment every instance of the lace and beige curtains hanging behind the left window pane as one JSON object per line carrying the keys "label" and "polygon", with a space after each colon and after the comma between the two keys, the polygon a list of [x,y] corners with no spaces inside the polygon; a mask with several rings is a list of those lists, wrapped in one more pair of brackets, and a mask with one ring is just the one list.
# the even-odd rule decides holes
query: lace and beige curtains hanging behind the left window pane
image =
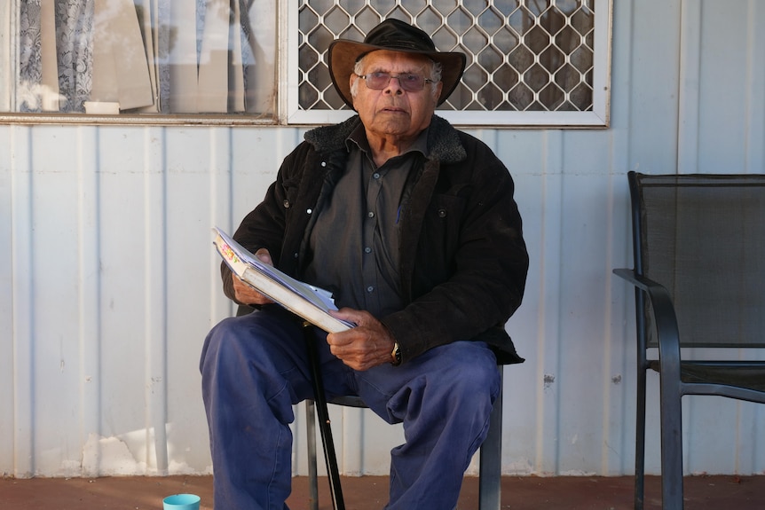
{"label": "lace and beige curtains hanging behind the left window pane", "polygon": [[15,111],[272,113],[274,0],[19,0],[18,16]]}

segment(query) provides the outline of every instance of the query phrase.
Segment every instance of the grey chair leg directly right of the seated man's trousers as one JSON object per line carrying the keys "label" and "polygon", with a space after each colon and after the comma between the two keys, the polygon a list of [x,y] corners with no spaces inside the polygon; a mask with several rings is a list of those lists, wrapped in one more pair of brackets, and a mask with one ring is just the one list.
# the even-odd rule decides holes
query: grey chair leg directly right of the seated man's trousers
{"label": "grey chair leg directly right of the seated man's trousers", "polygon": [[480,510],[500,510],[502,492],[502,386],[503,373],[500,370],[500,394],[494,401],[492,415],[489,418],[489,432],[481,445],[478,461],[478,508]]}

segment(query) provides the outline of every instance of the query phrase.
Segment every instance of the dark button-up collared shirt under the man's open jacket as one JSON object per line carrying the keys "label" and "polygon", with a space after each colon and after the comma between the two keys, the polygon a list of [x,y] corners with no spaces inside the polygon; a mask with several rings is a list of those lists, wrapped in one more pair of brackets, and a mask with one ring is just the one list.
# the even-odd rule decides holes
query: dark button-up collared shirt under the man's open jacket
{"label": "dark button-up collared shirt under the man's open jacket", "polygon": [[427,153],[425,129],[406,153],[377,167],[363,125],[346,139],[348,162],[309,237],[305,279],[331,290],[339,308],[382,318],[404,308],[398,221]]}

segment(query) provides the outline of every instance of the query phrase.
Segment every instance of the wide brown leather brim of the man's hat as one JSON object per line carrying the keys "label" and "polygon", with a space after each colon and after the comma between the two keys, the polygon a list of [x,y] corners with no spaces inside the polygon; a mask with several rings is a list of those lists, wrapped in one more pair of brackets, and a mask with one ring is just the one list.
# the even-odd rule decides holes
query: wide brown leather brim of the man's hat
{"label": "wide brown leather brim of the man's hat", "polygon": [[[329,44],[327,58],[329,60],[329,76],[335,85],[335,90],[343,98],[345,104],[353,108],[353,98],[351,97],[351,75],[356,61],[370,51],[386,50],[400,51],[402,53],[411,53],[413,55],[422,55],[441,64],[441,82],[444,84],[441,88],[441,95],[438,97],[438,105],[446,101],[460,82],[462,73],[465,71],[467,59],[460,52],[449,51],[418,51],[399,48],[390,48],[388,46],[378,46],[376,44],[357,43],[355,41],[346,41],[338,39]],[[355,108],[353,108],[355,110]]]}

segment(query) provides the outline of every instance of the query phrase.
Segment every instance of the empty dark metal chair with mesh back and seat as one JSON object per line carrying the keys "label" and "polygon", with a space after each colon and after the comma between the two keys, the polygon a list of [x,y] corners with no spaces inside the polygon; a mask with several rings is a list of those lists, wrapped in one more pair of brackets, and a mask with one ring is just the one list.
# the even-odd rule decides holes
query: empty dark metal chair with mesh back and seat
{"label": "empty dark metal chair with mesh back and seat", "polygon": [[[765,403],[765,361],[744,350],[765,348],[765,176],[627,177],[635,269],[614,272],[635,285],[635,508],[643,508],[645,384],[653,369],[660,374],[662,504],[677,509],[681,397]],[[684,348],[697,348],[693,358]],[[715,359],[703,359],[703,348],[715,348]]]}

